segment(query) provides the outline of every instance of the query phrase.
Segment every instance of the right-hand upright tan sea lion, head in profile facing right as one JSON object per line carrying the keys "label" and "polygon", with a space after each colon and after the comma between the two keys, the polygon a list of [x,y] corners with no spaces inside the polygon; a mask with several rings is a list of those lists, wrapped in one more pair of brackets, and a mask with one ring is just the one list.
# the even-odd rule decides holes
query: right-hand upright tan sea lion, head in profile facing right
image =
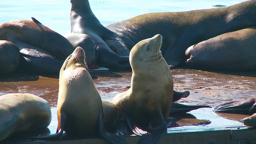
{"label": "right-hand upright tan sea lion, head in profile facing right", "polygon": [[173,97],[172,73],[162,57],[162,36],[138,42],[130,52],[131,87],[116,95],[112,103],[149,132],[140,143],[156,143],[166,133],[166,118]]}

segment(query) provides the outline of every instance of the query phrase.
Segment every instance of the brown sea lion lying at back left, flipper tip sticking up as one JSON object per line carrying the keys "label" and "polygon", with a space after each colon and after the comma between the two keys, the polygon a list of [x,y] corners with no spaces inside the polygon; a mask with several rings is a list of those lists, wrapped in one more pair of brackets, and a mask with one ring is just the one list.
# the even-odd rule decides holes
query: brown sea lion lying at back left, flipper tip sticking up
{"label": "brown sea lion lying at back left, flipper tip sticking up", "polygon": [[[74,50],[70,42],[38,20],[13,20],[0,25],[0,40],[12,42],[29,72],[58,74]],[[26,68],[24,68],[26,70]]]}

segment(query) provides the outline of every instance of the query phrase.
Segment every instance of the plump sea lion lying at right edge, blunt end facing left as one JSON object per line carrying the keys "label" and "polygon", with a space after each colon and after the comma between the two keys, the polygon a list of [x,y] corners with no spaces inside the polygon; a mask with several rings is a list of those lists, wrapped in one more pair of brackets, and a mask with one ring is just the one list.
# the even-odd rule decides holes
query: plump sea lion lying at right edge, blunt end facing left
{"label": "plump sea lion lying at right edge, blunt end facing left", "polygon": [[221,34],[193,46],[186,65],[204,70],[256,70],[256,26]]}

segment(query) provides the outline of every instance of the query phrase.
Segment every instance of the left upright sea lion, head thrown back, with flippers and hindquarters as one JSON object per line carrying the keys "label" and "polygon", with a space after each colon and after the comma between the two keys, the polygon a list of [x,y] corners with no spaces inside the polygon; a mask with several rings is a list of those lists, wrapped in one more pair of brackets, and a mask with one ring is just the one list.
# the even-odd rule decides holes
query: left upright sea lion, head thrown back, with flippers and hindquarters
{"label": "left upright sea lion, head thrown back, with flippers and hindquarters", "polygon": [[[100,135],[111,143],[123,144],[126,143],[124,137],[118,135],[128,134],[133,129],[136,133],[137,127],[132,122],[123,120],[124,113],[120,108],[113,106],[114,104],[104,102],[104,114],[100,94],[94,86],[85,59],[84,50],[78,46],[60,69],[56,134],[33,138],[57,139],[65,131],[69,136],[94,138]],[[127,125],[118,122],[126,122]],[[112,125],[114,130],[109,127],[106,129],[105,124]],[[126,131],[128,126],[130,130]]]}

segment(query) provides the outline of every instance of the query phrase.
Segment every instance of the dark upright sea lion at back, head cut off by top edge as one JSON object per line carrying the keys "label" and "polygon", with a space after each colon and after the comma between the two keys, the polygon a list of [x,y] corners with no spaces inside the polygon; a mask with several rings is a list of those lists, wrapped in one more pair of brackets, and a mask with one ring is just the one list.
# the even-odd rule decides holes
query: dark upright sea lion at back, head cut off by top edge
{"label": "dark upright sea lion at back, head cut off by top edge", "polygon": [[[88,34],[95,42],[97,48],[97,64],[102,67],[126,70],[130,69],[129,52],[124,48],[126,44],[134,46],[134,43],[124,34],[119,34],[108,30],[102,26],[98,18],[92,13],[88,0],[70,0],[71,12],[70,23],[71,33]],[[110,49],[104,40],[115,41],[115,47],[121,49]]]}

